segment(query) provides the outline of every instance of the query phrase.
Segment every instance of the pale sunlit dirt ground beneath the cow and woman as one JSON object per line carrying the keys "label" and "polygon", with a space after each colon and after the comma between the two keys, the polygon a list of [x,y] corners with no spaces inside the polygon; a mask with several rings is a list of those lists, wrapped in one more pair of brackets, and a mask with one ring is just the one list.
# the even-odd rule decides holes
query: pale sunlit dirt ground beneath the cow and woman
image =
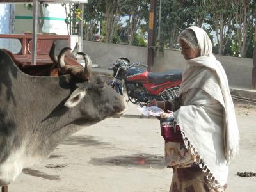
{"label": "pale sunlit dirt ground beneath the cow and woman", "polygon": [[[228,192],[256,191],[256,106],[236,104],[240,156],[230,164]],[[159,120],[141,118],[137,106],[121,118],[85,127],[63,141],[42,163],[26,168],[9,191],[168,191],[172,170],[164,166]]]}

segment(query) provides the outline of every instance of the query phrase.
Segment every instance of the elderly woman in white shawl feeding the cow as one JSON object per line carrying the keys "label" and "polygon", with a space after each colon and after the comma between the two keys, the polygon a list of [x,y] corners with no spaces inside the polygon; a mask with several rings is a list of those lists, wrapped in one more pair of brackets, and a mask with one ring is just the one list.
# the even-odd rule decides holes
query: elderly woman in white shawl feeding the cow
{"label": "elderly woman in white shawl feeding the cow", "polygon": [[179,43],[188,63],[179,97],[151,103],[173,111],[175,131],[165,142],[166,164],[173,168],[170,191],[224,191],[228,163],[239,150],[227,76],[203,29],[184,29]]}

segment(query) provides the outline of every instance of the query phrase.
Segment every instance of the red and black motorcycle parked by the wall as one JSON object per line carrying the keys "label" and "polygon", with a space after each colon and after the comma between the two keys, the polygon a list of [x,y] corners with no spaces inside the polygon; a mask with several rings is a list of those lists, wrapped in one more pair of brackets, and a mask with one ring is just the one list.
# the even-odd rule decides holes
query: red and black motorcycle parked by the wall
{"label": "red and black motorcycle parked by the wall", "polygon": [[110,86],[124,95],[128,102],[147,105],[152,99],[169,100],[177,97],[182,82],[183,70],[175,69],[168,72],[148,72],[147,65],[135,62],[130,65],[127,58],[118,58],[109,70],[113,70],[114,79]]}

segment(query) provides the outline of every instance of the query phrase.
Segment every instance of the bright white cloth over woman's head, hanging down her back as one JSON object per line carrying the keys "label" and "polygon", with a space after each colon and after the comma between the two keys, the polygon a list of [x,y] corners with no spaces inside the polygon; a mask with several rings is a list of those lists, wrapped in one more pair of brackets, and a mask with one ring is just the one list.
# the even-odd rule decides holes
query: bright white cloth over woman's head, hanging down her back
{"label": "bright white cloth over woman's head, hanging down her back", "polygon": [[225,156],[227,161],[230,157],[234,157],[239,151],[239,131],[236,122],[236,115],[234,110],[234,104],[230,95],[227,76],[221,63],[216,60],[212,54],[212,43],[207,33],[196,26],[189,27],[192,29],[198,40],[199,48],[201,49],[201,56],[188,60],[189,65],[205,66],[216,71],[218,79],[220,81],[220,88],[223,95],[225,108],[225,120],[224,120],[224,145]]}

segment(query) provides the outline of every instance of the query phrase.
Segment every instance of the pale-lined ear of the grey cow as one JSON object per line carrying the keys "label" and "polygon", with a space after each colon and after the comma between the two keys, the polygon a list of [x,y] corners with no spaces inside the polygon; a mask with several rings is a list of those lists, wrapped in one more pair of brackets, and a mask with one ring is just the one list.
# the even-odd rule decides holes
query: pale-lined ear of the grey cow
{"label": "pale-lined ear of the grey cow", "polygon": [[71,93],[70,97],[64,105],[68,108],[73,108],[74,106],[79,104],[79,102],[84,98],[86,93],[86,89],[77,88],[76,90],[74,90],[73,93]]}

